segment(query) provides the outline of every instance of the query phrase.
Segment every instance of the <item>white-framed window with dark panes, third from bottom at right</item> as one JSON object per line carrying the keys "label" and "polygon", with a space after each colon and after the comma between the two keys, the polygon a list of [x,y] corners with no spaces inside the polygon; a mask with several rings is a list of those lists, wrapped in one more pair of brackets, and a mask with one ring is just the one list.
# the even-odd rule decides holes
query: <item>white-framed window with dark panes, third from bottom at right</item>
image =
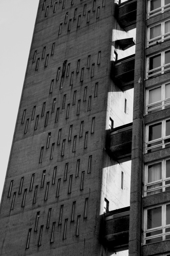
{"label": "white-framed window with dark panes, third from bottom at right", "polygon": [[170,147],[170,119],[147,126],[147,153]]}

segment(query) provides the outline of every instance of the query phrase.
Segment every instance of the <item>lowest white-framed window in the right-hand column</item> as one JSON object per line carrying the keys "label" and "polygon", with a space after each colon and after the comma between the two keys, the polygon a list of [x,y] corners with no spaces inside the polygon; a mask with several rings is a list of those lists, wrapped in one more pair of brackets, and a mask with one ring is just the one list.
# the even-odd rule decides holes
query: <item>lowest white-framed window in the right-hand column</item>
{"label": "lowest white-framed window in the right-hand column", "polygon": [[145,210],[145,244],[170,239],[170,204]]}

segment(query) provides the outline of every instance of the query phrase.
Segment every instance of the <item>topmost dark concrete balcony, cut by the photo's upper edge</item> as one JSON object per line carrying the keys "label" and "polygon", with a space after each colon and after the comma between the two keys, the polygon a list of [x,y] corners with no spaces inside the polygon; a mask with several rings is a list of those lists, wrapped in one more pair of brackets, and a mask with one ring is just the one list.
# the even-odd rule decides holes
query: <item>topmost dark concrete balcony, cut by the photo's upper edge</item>
{"label": "topmost dark concrete balcony, cut by the photo's upper edge", "polygon": [[137,0],[129,0],[118,4],[117,20],[125,31],[136,28]]}

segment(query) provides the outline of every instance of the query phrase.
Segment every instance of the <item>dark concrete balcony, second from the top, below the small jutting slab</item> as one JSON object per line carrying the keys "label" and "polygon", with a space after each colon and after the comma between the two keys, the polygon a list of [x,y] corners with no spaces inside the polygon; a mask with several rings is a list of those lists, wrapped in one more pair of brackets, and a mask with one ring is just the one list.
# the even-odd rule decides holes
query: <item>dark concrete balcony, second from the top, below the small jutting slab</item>
{"label": "dark concrete balcony, second from the top, below the small jutting slab", "polygon": [[127,90],[134,87],[135,54],[114,61],[112,79],[121,89]]}

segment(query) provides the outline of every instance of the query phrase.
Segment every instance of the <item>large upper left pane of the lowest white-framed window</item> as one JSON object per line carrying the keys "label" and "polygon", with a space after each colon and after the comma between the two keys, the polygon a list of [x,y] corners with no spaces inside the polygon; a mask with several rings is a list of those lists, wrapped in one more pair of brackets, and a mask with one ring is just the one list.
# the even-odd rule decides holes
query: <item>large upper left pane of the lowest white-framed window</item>
{"label": "large upper left pane of the lowest white-framed window", "polygon": [[162,226],[162,206],[147,210],[147,229]]}

